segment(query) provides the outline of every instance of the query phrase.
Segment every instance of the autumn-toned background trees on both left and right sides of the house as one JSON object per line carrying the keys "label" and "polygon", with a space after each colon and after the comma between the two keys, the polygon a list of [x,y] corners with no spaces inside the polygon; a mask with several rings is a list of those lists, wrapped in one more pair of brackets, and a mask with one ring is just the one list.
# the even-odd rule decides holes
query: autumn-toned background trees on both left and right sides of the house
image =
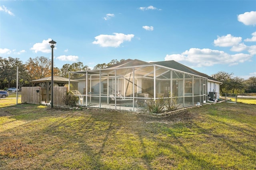
{"label": "autumn-toned background trees on both left and right sides of the house", "polygon": [[[124,61],[121,59],[112,59],[109,63],[97,64],[93,69],[103,69],[111,65]],[[16,87],[16,69],[19,68],[18,87],[30,86],[31,80],[41,79],[51,76],[51,59],[41,56],[29,58],[23,63],[19,58],[0,57],[0,89]],[[64,64],[62,68],[54,67],[54,75],[68,78],[71,71],[87,71],[90,68],[82,62]],[[70,74],[71,79],[80,77],[80,74]],[[234,77],[233,73],[219,71],[211,75],[216,80],[222,82],[220,93],[256,93],[256,77],[250,77],[245,80],[240,77]]]}

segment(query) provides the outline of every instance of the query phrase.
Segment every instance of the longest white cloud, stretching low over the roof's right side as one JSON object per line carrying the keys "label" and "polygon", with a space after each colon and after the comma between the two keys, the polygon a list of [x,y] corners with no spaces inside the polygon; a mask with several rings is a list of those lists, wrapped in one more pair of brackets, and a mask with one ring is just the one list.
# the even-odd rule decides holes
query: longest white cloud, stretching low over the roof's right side
{"label": "longest white cloud, stretching low over the roof's right side", "polygon": [[191,67],[213,66],[216,64],[235,65],[250,60],[252,55],[238,53],[230,55],[224,51],[212,49],[190,48],[181,54],[166,55],[167,60],[182,61]]}

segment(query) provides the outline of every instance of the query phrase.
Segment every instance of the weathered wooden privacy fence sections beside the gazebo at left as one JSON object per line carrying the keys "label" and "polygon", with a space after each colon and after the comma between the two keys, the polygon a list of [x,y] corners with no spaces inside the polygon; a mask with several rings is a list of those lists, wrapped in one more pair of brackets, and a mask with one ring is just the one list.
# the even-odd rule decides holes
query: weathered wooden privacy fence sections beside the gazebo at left
{"label": "weathered wooden privacy fence sections beside the gazebo at left", "polygon": [[[67,87],[53,87],[53,105],[64,106],[62,102],[66,95]],[[49,91],[49,98],[51,99],[51,90]],[[46,101],[46,89],[41,87],[22,87],[21,102],[40,104],[41,101]],[[50,103],[49,103],[50,104]]]}

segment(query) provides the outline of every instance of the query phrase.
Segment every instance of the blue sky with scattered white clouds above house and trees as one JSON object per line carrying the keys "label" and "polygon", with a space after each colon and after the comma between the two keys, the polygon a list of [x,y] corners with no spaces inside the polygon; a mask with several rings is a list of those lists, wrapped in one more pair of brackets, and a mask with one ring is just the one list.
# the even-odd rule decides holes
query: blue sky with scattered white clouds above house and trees
{"label": "blue sky with scattered white clouds above house and trees", "polygon": [[175,60],[212,75],[256,76],[256,1],[1,1],[0,56]]}

